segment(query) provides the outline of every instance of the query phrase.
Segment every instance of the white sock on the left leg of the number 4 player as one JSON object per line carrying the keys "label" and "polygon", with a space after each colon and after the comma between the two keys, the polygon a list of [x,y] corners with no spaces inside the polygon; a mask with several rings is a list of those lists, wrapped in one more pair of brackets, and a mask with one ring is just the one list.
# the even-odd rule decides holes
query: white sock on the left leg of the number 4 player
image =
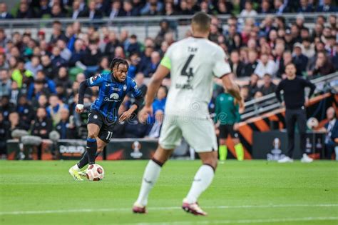
{"label": "white sock on the left leg of the number 4 player", "polygon": [[156,164],[155,161],[150,160],[143,174],[142,185],[140,194],[138,194],[138,204],[146,206],[148,204],[148,195],[160,175],[161,166]]}

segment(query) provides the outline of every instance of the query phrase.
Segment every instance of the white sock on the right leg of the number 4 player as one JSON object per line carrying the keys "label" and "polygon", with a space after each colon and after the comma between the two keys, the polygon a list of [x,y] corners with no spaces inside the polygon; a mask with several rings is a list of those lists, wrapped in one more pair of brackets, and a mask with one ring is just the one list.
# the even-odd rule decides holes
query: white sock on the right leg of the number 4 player
{"label": "white sock on the right leg of the number 4 player", "polygon": [[200,194],[203,191],[208,189],[208,186],[211,184],[212,179],[214,178],[215,172],[209,165],[202,165],[198,169],[193,184],[191,185],[190,191],[185,198],[189,204],[193,204],[197,201]]}

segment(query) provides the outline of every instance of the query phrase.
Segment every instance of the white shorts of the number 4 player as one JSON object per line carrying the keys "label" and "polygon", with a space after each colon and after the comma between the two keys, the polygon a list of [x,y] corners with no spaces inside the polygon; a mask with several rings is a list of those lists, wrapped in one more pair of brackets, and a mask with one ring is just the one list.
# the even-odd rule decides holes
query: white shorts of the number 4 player
{"label": "white shorts of the number 4 player", "polygon": [[163,149],[175,149],[182,137],[196,152],[217,151],[215,129],[209,116],[202,119],[165,115],[160,131],[160,146]]}

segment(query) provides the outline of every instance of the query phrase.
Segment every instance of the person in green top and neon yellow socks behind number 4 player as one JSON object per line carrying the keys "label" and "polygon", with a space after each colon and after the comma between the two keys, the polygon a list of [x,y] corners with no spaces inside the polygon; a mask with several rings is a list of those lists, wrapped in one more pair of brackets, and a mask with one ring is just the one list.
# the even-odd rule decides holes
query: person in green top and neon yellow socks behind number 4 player
{"label": "person in green top and neon yellow socks behind number 4 player", "polygon": [[238,123],[240,122],[240,103],[227,91],[217,96],[214,121],[220,130],[220,146],[218,147],[220,161],[227,159],[226,141],[229,134],[235,145],[237,159],[242,161],[244,159],[244,150],[237,134]]}

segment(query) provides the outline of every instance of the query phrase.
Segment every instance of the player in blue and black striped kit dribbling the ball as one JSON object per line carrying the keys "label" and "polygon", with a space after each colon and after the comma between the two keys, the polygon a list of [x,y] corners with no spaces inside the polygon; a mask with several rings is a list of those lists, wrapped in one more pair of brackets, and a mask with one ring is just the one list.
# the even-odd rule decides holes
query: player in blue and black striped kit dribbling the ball
{"label": "player in blue and black striped kit dribbling the ball", "polygon": [[[98,74],[86,79],[80,84],[78,90],[78,104],[76,112],[83,112],[83,96],[88,86],[98,86],[98,98],[91,105],[91,111],[88,114],[88,138],[86,153],[78,164],[69,169],[69,173],[75,180],[82,181],[81,169],[87,164],[95,164],[98,154],[109,143],[113,136],[113,128],[118,119],[125,121],[129,119],[133,112],[140,107],[143,102],[141,94],[135,81],[128,74],[128,62],[124,59],[113,59],[111,62],[111,72],[106,74]],[[135,103],[130,109],[123,112],[118,118],[118,108],[128,94],[132,92],[135,96]]]}

